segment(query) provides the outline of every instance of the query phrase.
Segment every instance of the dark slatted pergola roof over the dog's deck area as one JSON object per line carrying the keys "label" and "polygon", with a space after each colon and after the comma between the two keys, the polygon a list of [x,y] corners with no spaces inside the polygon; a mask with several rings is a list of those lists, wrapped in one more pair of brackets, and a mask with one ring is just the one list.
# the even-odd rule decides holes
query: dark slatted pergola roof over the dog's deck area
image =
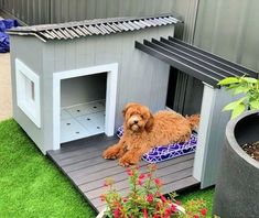
{"label": "dark slatted pergola roof over the dog's deck area", "polygon": [[214,87],[219,87],[218,81],[229,76],[257,77],[251,69],[171,36],[136,42],[136,47]]}

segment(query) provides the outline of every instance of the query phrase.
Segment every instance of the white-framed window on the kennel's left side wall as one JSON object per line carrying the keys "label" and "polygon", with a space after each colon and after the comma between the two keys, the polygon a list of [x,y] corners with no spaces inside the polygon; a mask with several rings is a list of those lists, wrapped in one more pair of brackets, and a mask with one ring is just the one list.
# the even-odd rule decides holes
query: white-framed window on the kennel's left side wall
{"label": "white-framed window on the kennel's left side wall", "polygon": [[41,128],[40,77],[21,61],[15,59],[18,107]]}

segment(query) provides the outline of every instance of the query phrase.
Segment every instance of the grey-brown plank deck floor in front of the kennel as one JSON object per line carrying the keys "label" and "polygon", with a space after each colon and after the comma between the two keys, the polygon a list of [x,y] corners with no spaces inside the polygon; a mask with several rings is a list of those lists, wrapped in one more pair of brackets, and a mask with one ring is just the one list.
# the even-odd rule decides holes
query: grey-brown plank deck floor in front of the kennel
{"label": "grey-brown plank deck floor in front of the kennel", "polygon": [[[100,211],[105,205],[99,196],[106,192],[105,178],[114,177],[117,189],[128,192],[128,175],[118,161],[104,160],[102,151],[118,142],[117,137],[108,138],[105,134],[68,142],[57,151],[48,151],[47,155],[73,182],[89,204]],[[194,154],[176,157],[157,164],[155,175],[163,181],[163,194],[184,189],[198,182],[192,176]],[[140,162],[140,171],[145,172],[148,163]]]}

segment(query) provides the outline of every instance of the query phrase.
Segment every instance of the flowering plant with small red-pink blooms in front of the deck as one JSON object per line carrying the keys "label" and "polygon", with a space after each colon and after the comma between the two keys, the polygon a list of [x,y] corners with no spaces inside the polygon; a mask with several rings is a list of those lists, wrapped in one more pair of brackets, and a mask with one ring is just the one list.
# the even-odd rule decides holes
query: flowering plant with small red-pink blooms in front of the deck
{"label": "flowering plant with small red-pink blooms in front of the deck", "polygon": [[[198,214],[185,212],[174,199],[175,194],[171,194],[168,198],[161,194],[162,181],[154,177],[155,170],[155,165],[149,165],[148,173],[143,174],[138,166],[127,168],[130,190],[125,197],[114,187],[112,178],[106,179],[105,186],[109,189],[100,196],[107,204],[105,215],[109,218],[191,218],[194,215],[199,217]],[[201,217],[206,217],[205,208],[195,207],[195,209],[199,210]]]}

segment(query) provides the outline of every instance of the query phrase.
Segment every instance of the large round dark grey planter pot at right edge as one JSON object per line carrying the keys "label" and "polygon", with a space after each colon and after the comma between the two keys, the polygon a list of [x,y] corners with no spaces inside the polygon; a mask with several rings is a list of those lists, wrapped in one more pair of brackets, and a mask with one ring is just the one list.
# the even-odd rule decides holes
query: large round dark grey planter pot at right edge
{"label": "large round dark grey planter pot at right edge", "polygon": [[259,162],[239,144],[259,141],[259,111],[228,122],[216,183],[214,215],[222,218],[259,217]]}

